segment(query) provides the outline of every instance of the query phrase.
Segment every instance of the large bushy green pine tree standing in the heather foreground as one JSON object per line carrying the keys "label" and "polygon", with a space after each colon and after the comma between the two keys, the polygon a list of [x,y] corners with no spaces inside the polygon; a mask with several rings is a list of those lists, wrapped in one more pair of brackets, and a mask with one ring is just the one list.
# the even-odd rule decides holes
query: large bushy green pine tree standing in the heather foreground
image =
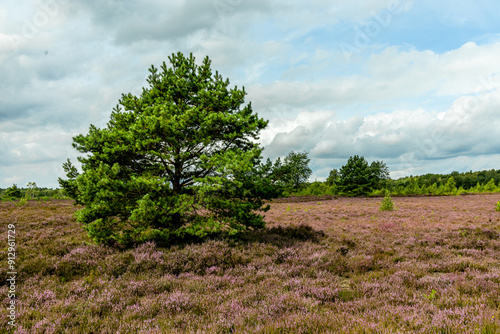
{"label": "large bushy green pine tree standing in the heather foreground", "polygon": [[68,160],[66,194],[97,243],[203,237],[262,228],[268,194],[255,144],[267,122],[191,55],[152,66],[140,96],[124,94],[106,128],[73,138],[83,173]]}

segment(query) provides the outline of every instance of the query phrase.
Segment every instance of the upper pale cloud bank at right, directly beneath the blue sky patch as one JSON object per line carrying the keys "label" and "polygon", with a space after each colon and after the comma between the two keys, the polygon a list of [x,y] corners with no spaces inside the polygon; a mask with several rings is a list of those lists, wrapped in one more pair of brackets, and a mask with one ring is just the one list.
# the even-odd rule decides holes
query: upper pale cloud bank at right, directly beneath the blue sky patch
{"label": "upper pale cloud bank at right, directly beneath the blue sky patch", "polygon": [[467,43],[444,54],[389,47],[370,57],[366,74],[253,85],[249,95],[256,106],[267,108],[373,104],[427,94],[456,98],[500,87],[499,53],[500,43]]}

